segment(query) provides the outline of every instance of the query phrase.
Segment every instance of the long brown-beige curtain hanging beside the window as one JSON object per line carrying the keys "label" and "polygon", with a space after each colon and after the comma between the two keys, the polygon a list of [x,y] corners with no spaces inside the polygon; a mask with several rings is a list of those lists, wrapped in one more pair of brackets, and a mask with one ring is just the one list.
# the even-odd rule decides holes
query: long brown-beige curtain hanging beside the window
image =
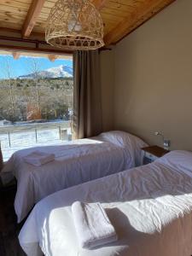
{"label": "long brown-beige curtain hanging beside the window", "polygon": [[96,136],[102,132],[98,51],[76,51],[73,54],[73,71],[73,137]]}

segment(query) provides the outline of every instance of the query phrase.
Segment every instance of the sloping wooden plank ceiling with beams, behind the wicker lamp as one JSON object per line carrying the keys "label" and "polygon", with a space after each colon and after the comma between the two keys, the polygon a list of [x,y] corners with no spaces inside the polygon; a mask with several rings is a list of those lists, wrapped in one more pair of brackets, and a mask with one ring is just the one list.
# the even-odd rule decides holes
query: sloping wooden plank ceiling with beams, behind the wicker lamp
{"label": "sloping wooden plank ceiling with beams, behind the wicker lamp", "polygon": [[[0,49],[6,38],[44,41],[46,20],[57,0],[1,0]],[[116,44],[175,0],[90,0],[99,9],[106,46]],[[3,33],[3,35],[2,35]],[[40,38],[40,39],[39,39]],[[34,43],[34,42],[33,42]],[[35,44],[35,43],[34,43]],[[11,44],[13,45],[13,44]],[[45,45],[45,44],[44,44]],[[11,46],[10,46],[11,47]],[[16,47],[16,44],[15,44]],[[18,46],[19,47],[19,46]],[[45,47],[45,46],[44,46]],[[8,45],[9,48],[9,45]],[[32,48],[37,48],[33,46]],[[56,50],[56,49],[55,49]],[[60,50],[61,51],[61,50]]]}

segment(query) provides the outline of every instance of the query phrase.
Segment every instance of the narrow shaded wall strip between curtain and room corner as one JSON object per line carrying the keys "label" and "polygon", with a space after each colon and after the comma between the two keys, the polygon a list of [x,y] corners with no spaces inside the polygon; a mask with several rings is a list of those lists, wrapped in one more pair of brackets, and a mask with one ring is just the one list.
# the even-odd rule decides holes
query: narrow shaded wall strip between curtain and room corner
{"label": "narrow shaded wall strip between curtain and room corner", "polygon": [[101,82],[102,82],[102,123],[103,131],[113,130],[113,83],[114,62],[113,51],[100,52]]}

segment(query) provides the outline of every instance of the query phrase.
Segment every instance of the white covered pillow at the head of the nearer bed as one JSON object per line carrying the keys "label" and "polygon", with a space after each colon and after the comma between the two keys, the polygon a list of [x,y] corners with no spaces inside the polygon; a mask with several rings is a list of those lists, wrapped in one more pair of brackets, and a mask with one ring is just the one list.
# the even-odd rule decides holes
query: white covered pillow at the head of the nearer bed
{"label": "white covered pillow at the head of the nearer bed", "polygon": [[192,152],[185,150],[174,150],[160,159],[156,160],[173,169],[192,174]]}

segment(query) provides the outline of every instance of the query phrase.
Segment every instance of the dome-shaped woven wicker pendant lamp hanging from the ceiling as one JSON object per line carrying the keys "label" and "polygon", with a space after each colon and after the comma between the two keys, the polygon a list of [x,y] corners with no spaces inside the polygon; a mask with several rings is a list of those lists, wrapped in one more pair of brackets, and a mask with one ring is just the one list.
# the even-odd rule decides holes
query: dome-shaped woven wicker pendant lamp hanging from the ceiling
{"label": "dome-shaped woven wicker pendant lamp hanging from the ceiling", "polygon": [[102,17],[88,0],[58,0],[50,11],[45,39],[62,49],[98,49],[104,45]]}

